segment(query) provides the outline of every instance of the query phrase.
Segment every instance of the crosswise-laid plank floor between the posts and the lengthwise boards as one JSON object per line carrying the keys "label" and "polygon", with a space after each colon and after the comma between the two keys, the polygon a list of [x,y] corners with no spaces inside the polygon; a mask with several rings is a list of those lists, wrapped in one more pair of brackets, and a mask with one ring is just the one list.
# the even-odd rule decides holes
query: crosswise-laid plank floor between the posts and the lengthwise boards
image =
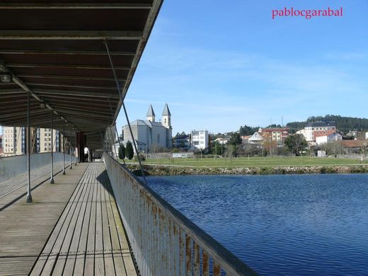
{"label": "crosswise-laid plank floor between the posts and the lengthwise boards", "polygon": [[87,167],[80,163],[55,176],[55,184],[39,185],[32,204],[23,196],[0,211],[0,275],[28,275]]}

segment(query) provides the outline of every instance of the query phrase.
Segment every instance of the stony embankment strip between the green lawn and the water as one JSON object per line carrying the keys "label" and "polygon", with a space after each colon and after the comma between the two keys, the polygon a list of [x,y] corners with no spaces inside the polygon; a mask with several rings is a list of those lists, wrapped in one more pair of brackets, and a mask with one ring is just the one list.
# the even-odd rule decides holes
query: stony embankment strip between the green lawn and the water
{"label": "stony embankment strip between the green lawn and the water", "polygon": [[[268,174],[304,174],[304,173],[368,173],[368,165],[351,166],[275,166],[275,167],[185,167],[144,165],[146,176],[183,176],[183,175],[268,175]],[[139,166],[128,164],[127,168],[137,176],[141,175]]]}

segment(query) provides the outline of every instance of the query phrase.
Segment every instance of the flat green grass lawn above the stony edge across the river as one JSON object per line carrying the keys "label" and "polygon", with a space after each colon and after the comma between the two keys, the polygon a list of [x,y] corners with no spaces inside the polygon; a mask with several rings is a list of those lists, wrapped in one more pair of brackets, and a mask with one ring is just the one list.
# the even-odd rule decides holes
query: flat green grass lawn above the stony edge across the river
{"label": "flat green grass lawn above the stony edge across the river", "polygon": [[[127,161],[126,163],[138,163]],[[324,165],[357,165],[368,164],[360,159],[338,159],[318,157],[239,157],[239,158],[202,158],[202,159],[146,159],[144,165],[170,165],[170,166],[205,166],[205,167],[252,167],[252,166],[324,166]]]}

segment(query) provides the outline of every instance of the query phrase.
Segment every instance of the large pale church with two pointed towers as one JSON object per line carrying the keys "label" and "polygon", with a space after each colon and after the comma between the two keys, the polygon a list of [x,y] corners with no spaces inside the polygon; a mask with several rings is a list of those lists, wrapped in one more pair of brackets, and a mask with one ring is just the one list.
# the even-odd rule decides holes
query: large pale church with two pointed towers
{"label": "large pale church with two pointed towers", "polygon": [[[153,149],[171,148],[173,140],[173,127],[171,127],[171,113],[168,104],[163,108],[162,117],[156,122],[154,108],[149,105],[147,120],[135,120],[130,122],[138,151],[144,153],[151,152]],[[122,127],[122,139],[126,145],[128,141],[132,142],[129,126]]]}

